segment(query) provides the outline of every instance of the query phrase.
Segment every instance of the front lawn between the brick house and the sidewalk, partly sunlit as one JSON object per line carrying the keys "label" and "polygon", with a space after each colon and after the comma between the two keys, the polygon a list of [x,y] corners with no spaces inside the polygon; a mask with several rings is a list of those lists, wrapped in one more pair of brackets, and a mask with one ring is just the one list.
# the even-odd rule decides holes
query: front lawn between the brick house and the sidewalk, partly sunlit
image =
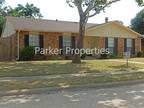
{"label": "front lawn between the brick house and the sidewalk, partly sunlit", "polygon": [[[82,64],[71,61],[0,62],[0,77],[119,72],[126,71],[125,65],[105,60],[87,60]],[[143,68],[142,64],[129,65],[132,70]]]}

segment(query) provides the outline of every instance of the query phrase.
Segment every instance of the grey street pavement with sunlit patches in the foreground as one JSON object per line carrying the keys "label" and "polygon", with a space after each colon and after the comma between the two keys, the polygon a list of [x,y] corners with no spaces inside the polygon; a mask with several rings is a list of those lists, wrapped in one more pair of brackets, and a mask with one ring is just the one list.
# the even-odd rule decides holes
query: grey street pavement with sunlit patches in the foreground
{"label": "grey street pavement with sunlit patches in the foreground", "polygon": [[0,108],[144,108],[144,84],[0,97]]}

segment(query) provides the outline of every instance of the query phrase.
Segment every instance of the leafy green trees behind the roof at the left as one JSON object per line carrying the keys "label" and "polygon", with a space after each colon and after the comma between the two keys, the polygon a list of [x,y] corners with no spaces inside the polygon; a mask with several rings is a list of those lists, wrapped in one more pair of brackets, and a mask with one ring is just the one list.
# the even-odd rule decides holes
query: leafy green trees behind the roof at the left
{"label": "leafy green trees behind the roof at the left", "polygon": [[6,16],[27,17],[27,18],[42,18],[40,9],[33,4],[25,6],[18,4],[14,9],[10,6],[2,6],[4,0],[0,0],[0,36],[2,33],[3,24]]}

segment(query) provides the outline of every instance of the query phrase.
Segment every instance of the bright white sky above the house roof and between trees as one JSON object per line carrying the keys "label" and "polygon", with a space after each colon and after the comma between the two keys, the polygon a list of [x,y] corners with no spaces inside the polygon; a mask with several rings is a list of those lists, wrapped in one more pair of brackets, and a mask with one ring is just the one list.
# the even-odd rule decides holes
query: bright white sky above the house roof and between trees
{"label": "bright white sky above the house roof and between trees", "polygon": [[[44,19],[62,20],[62,21],[79,21],[79,15],[76,8],[71,8],[66,3],[66,0],[6,0],[6,4],[11,7],[17,6],[17,4],[33,3],[40,8]],[[109,18],[109,21],[119,20],[124,25],[129,26],[131,19],[142,10],[135,0],[121,0],[114,3],[111,7],[106,8],[105,13],[100,14],[89,19],[89,23],[104,23],[105,17]]]}

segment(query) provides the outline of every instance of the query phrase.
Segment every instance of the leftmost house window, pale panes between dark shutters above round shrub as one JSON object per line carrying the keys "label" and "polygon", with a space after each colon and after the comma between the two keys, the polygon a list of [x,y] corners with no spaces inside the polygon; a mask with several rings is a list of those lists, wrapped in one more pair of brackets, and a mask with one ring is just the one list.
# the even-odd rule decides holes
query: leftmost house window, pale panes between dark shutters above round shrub
{"label": "leftmost house window, pale panes between dark shutters above round shrub", "polygon": [[29,34],[29,46],[39,47],[39,35]]}

